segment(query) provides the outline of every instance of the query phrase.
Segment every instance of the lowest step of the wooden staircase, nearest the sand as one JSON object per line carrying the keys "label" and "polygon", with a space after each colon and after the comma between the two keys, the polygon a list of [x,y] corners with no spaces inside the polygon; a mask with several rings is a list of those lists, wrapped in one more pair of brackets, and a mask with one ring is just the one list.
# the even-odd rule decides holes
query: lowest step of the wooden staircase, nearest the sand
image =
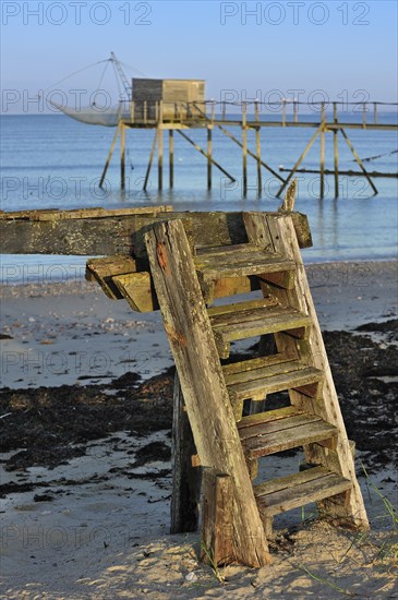
{"label": "lowest step of the wooden staircase, nearest the sand", "polygon": [[273,517],[311,502],[347,492],[351,488],[351,481],[326,467],[313,467],[255,485],[254,495],[262,516]]}

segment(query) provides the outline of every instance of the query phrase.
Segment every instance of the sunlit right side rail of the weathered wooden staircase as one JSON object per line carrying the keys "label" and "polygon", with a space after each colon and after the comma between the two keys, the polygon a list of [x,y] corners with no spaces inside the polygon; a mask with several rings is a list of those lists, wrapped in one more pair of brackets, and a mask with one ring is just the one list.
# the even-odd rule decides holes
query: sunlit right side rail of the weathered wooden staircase
{"label": "sunlit right side rail of the weathered wooden staircase", "polygon": [[[337,472],[341,473],[343,478],[349,479],[352,482],[352,489],[351,492],[347,494],[347,497],[342,499],[341,502],[327,503],[327,512],[330,516],[346,518],[350,520],[352,525],[362,529],[366,529],[369,528],[369,521],[362,497],[362,492],[358,484],[355,467],[347,437],[346,427],[343,423],[335,384],[327,360],[326,349],[323,341],[309,281],[297,242],[296,229],[291,217],[288,215],[267,215],[266,220],[272,232],[275,251],[280,252],[286,256],[289,256],[290,259],[296,261],[298,265],[296,289],[281,291],[284,291],[285,298],[290,302],[291,305],[309,314],[313,324],[312,327],[309,328],[309,341],[298,341],[299,351],[302,358],[304,358],[304,360],[306,360],[309,364],[313,364],[325,373],[323,395],[319,401],[313,403],[304,395],[294,391],[290,392],[290,399],[292,403],[296,403],[298,406],[304,409],[315,411],[325,421],[336,427],[338,431]],[[313,451],[311,446],[305,449],[306,460],[309,463],[313,461],[312,452]],[[318,455],[318,452],[316,454]]]}

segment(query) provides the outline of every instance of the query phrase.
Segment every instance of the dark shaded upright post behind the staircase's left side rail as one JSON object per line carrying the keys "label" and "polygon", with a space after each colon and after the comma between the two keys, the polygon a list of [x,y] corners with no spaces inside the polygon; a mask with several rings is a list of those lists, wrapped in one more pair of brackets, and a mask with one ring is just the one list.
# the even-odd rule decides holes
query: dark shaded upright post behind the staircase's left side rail
{"label": "dark shaded upright post behind the staircase's left side rail", "polygon": [[171,533],[196,531],[201,500],[201,467],[192,465],[195,442],[186,413],[178,374],[174,377],[172,418]]}

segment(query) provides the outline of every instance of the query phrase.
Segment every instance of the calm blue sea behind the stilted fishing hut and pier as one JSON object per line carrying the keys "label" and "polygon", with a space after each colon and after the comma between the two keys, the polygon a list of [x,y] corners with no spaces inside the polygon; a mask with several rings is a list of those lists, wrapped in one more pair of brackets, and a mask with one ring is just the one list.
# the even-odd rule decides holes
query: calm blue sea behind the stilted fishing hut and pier
{"label": "calm blue sea behind the stilted fishing hut and pier", "polygon": [[[269,117],[269,116],[267,116]],[[280,118],[280,117],[279,117]],[[317,119],[317,116],[315,116]],[[349,121],[352,115],[343,119]],[[311,120],[315,120],[309,117]],[[358,117],[357,117],[358,120]],[[397,122],[397,115],[381,113],[381,122]],[[249,164],[249,193],[242,197],[241,149],[219,130],[214,131],[214,158],[233,177],[229,180],[214,167],[214,188],[206,190],[206,159],[185,140],[174,134],[174,189],[168,187],[168,151],[165,134],[164,191],[157,191],[157,169],[150,175],[146,193],[142,191],[153,131],[132,130],[126,135],[126,193],[120,191],[119,148],[116,148],[107,173],[106,189],[98,181],[114,135],[114,129],[80,123],[64,116],[4,116],[1,123],[1,209],[106,208],[172,204],[180,211],[276,209],[278,180],[263,169],[263,192],[257,197],[256,165]],[[229,128],[240,139],[239,129]],[[262,130],[262,154],[274,170],[291,168],[312,129],[267,128]],[[188,132],[206,148],[203,130]],[[347,130],[362,158],[385,155],[366,161],[369,170],[397,172],[396,131]],[[249,147],[255,152],[254,132],[249,132]],[[342,136],[339,137],[340,168],[358,170]],[[319,142],[316,141],[302,166],[317,169]],[[326,168],[333,168],[333,135],[326,136]],[[281,172],[282,177],[287,173]],[[318,199],[319,177],[299,176],[296,208],[306,213],[314,247],[304,251],[306,262],[384,260],[397,256],[397,179],[375,179],[378,195],[363,177],[340,177],[340,197],[334,199],[334,179],[326,178],[326,197]],[[1,280],[22,283],[63,280],[83,273],[84,257],[2,255]]]}

